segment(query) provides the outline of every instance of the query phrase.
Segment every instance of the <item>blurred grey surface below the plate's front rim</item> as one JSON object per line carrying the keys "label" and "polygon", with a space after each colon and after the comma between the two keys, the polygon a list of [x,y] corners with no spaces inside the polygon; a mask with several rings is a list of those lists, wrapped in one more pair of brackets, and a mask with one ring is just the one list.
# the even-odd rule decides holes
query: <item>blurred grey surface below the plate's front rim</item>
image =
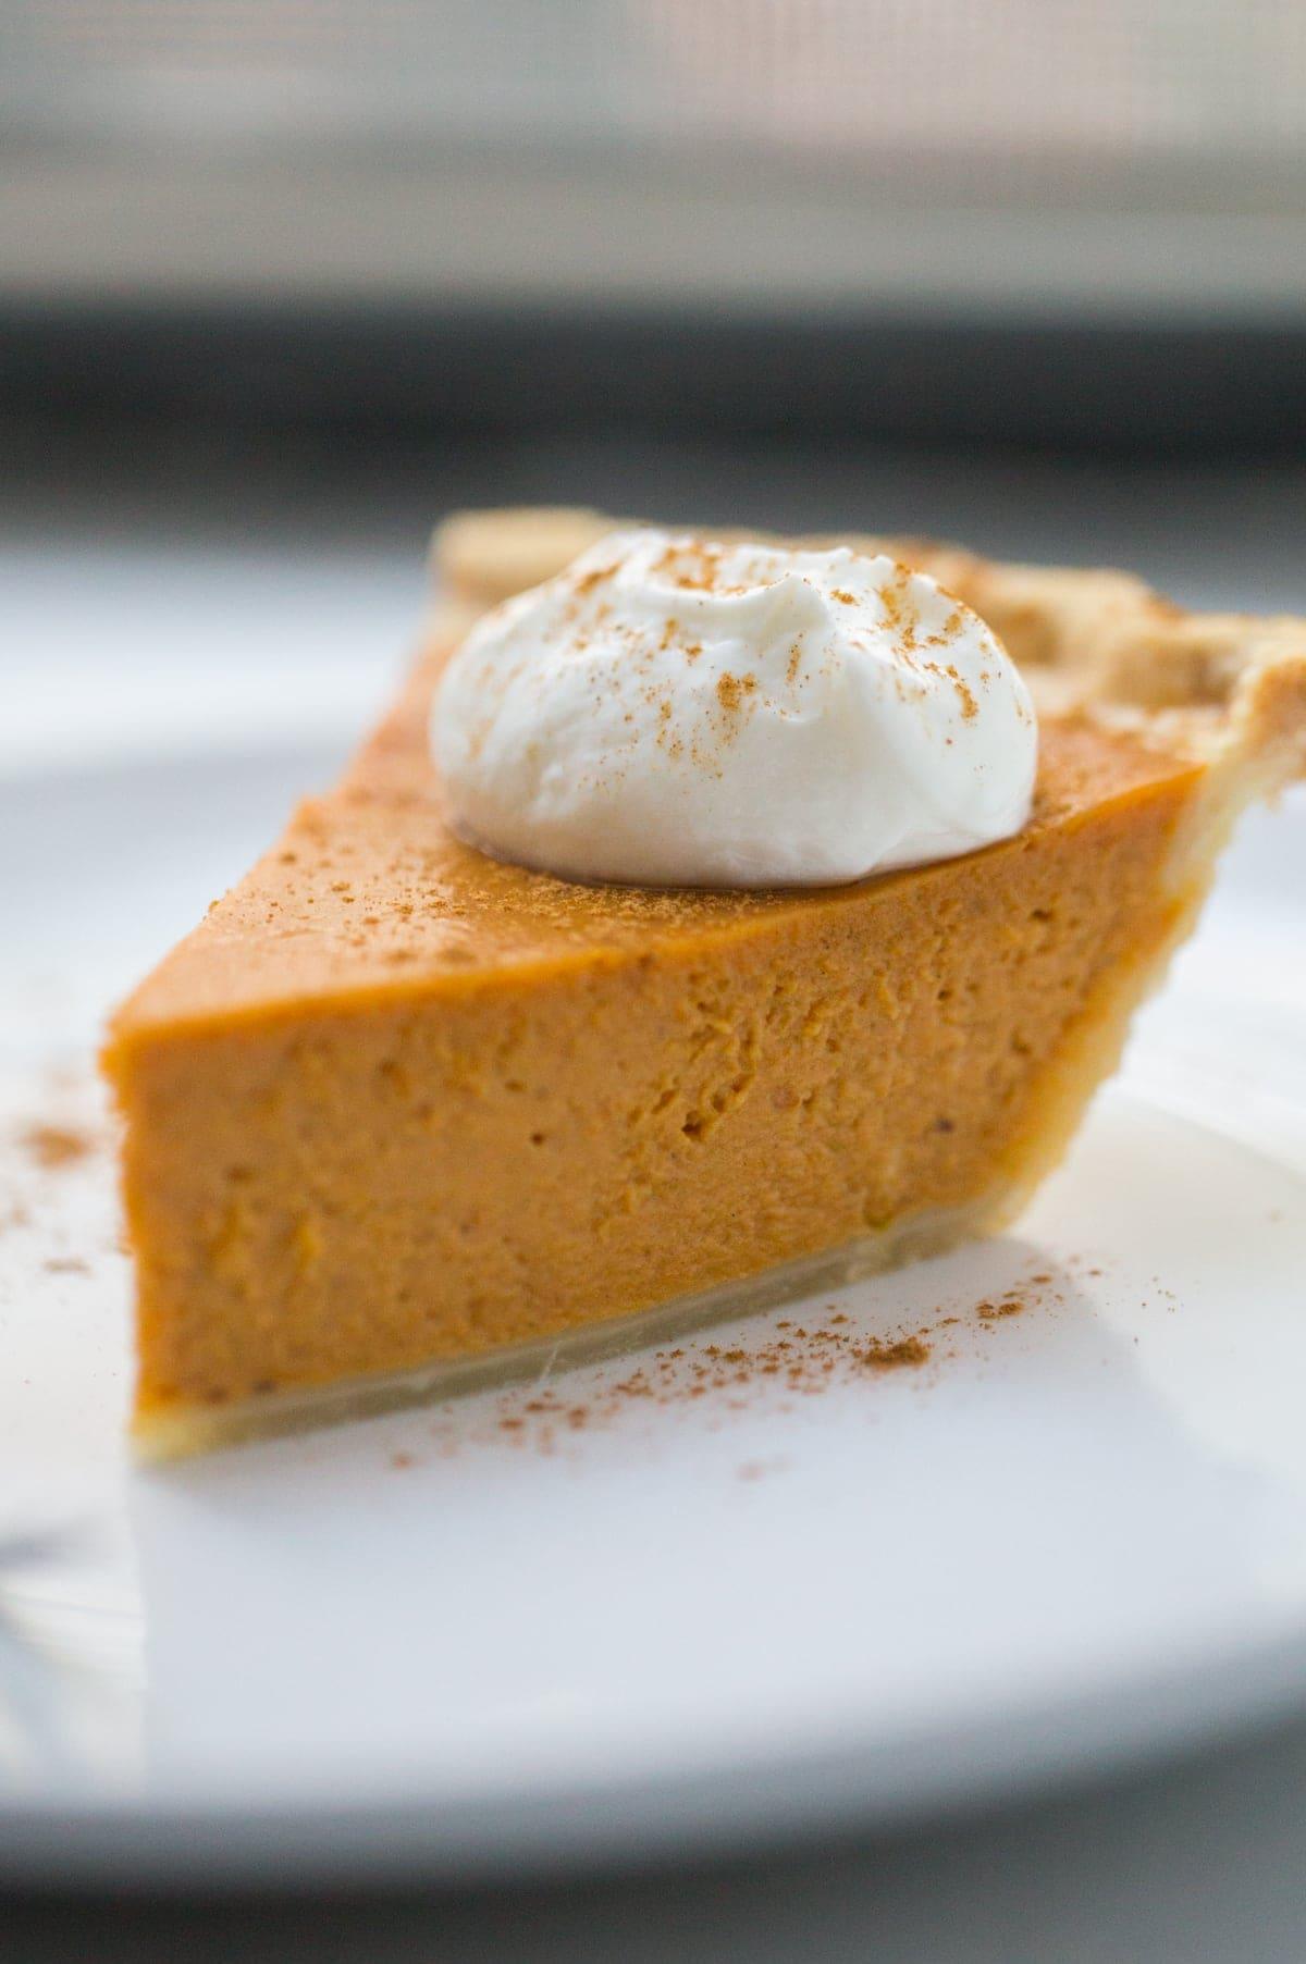
{"label": "blurred grey surface below the plate's front rim", "polygon": [[1304,1876],[1306,1722],[1037,1809],[693,1874],[336,1901],[14,1899],[0,1950],[22,1964],[1300,1964]]}

